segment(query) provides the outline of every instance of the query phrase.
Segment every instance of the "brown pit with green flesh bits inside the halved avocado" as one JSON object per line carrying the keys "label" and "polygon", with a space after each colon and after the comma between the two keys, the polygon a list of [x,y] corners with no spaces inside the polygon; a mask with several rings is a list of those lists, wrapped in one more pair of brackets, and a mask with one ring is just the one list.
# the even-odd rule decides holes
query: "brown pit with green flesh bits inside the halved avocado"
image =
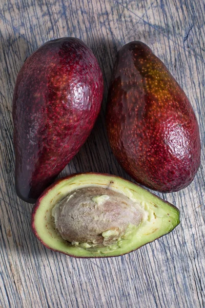
{"label": "brown pit with green flesh bits inside the halved avocado", "polygon": [[136,202],[103,187],[70,192],[53,207],[52,216],[60,236],[84,248],[117,243],[130,226],[138,227],[144,217]]}

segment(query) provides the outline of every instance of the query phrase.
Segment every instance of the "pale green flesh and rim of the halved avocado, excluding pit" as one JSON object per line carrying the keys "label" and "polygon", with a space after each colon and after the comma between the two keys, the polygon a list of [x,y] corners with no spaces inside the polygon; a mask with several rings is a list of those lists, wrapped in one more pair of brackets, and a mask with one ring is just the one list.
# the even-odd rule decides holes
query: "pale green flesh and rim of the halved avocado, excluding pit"
{"label": "pale green flesh and rim of the halved avocado, excluding pit", "polygon": [[[127,198],[139,209],[142,217],[140,223],[137,226],[128,224],[126,231],[106,246],[90,246],[87,243],[80,245],[78,242],[71,243],[65,240],[55,226],[53,208],[56,204],[67,200],[66,198],[69,195],[73,197],[76,191],[86,187],[89,189],[90,187],[101,187],[107,189],[107,191],[111,190],[112,194],[113,191],[118,196],[121,194],[124,199]],[[96,206],[101,204],[102,200],[106,200],[105,194],[103,197],[98,197],[93,197],[93,200],[100,200],[96,203]],[[67,203],[69,204],[68,201]],[[122,219],[125,218],[123,217],[124,213],[121,214]],[[96,219],[99,219],[99,217],[96,217]],[[103,219],[105,220],[105,218]],[[56,181],[38,198],[31,215],[32,231],[40,242],[53,251],[75,258],[116,257],[130,253],[170,233],[179,222],[179,210],[171,203],[128,180],[109,174],[95,173],[74,174]],[[113,229],[103,232],[105,238],[109,237],[110,234],[113,234]]]}

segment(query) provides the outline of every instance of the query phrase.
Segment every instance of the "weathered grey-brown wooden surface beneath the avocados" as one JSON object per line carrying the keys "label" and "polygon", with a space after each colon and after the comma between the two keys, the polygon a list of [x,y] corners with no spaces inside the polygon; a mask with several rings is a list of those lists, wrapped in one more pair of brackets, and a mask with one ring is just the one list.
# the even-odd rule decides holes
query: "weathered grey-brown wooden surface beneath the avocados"
{"label": "weathered grey-brown wooden surface beneath the avocados", "polygon": [[[0,4],[0,306],[205,307],[204,98],[205,4],[202,0],[2,0]],[[98,171],[124,176],[108,145],[105,106],[118,48],[147,43],[186,91],[200,125],[201,167],[193,183],[159,194],[181,211],[181,224],[131,254],[73,259],[40,244],[32,205],[14,191],[12,94],[17,72],[41,44],[62,36],[85,41],[105,78],[105,99],[86,144],[62,175]]]}

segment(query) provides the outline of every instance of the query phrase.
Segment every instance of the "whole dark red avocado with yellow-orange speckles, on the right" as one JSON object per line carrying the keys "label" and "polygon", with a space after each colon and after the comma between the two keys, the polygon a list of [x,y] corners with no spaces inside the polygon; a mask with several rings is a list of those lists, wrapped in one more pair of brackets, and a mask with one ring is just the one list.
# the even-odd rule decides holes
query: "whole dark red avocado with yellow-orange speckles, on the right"
{"label": "whole dark red avocado with yellow-orange speckles, on the right", "polygon": [[120,165],[161,192],[188,186],[200,166],[193,108],[166,66],[144,43],[123,46],[112,72],[107,132]]}

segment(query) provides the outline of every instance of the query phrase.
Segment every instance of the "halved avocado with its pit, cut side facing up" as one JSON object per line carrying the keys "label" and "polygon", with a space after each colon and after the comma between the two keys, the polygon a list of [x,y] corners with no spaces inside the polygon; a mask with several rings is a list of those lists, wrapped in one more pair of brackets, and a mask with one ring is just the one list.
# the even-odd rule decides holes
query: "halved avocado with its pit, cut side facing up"
{"label": "halved avocado with its pit, cut side facing up", "polygon": [[124,255],[178,224],[174,205],[130,181],[95,173],[56,181],[38,198],[31,215],[40,242],[76,258]]}

